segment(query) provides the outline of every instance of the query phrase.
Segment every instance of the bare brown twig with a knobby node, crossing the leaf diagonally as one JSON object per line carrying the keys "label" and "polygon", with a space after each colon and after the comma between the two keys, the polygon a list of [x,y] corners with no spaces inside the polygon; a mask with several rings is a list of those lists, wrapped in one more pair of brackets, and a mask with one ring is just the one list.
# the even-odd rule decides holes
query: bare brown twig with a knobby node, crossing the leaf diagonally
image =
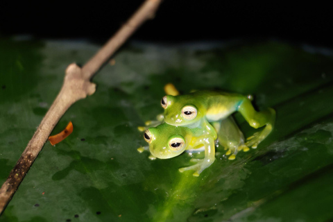
{"label": "bare brown twig with a knobby node, crossing the leaf diagonally", "polygon": [[17,187],[24,179],[24,176],[26,176],[38,153],[42,150],[46,139],[62,115],[79,99],[84,99],[86,96],[94,94],[96,85],[90,82],[92,76],[142,23],[147,19],[153,18],[160,3],[161,0],[146,0],[137,12],[130,17],[128,22],[110,38],[103,48],[82,69],[76,64],[71,64],[67,67],[64,83],[56,100],[53,101],[51,108],[42,119],[33,138],[28,143],[28,146],[26,146],[14,169],[12,169],[6,182],[3,183],[0,189],[0,214],[2,214],[6,205],[8,205],[10,199],[15,194]]}

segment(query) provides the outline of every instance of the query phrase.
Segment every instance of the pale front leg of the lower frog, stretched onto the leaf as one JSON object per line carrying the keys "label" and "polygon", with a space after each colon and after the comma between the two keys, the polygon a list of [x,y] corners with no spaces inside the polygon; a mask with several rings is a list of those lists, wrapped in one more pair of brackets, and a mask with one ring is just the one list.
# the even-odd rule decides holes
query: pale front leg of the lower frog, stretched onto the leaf
{"label": "pale front leg of the lower frog, stretched onto the leaf", "polygon": [[196,172],[193,173],[193,176],[199,176],[202,171],[210,167],[215,161],[214,139],[212,137],[201,137],[198,139],[198,142],[205,146],[205,157],[203,160],[196,160],[198,163],[193,166],[180,168],[179,171],[181,173],[188,170],[195,170]]}

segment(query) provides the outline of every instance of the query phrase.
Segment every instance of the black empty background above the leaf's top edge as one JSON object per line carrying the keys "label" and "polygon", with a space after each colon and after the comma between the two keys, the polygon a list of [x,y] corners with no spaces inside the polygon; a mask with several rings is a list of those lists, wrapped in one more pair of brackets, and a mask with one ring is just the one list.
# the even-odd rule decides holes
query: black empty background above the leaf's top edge
{"label": "black empty background above the leaf's top edge", "polygon": [[[0,35],[107,40],[143,1],[0,3]],[[327,3],[241,3],[165,0],[135,40],[188,42],[275,38],[333,47],[332,8]]]}

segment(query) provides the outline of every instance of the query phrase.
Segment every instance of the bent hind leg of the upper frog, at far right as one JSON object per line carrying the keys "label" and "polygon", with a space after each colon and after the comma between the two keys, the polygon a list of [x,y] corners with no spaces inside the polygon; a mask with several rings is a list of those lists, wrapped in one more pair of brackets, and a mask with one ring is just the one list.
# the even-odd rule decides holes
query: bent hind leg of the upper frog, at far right
{"label": "bent hind leg of the upper frog, at far right", "polygon": [[273,130],[275,123],[275,110],[272,108],[267,108],[266,110],[262,110],[257,112],[249,99],[244,99],[239,104],[237,110],[241,112],[246,121],[253,128],[260,128],[265,126],[265,128],[255,133],[253,136],[248,137],[246,146],[250,146],[252,148],[257,148],[258,144],[265,139],[269,133]]}

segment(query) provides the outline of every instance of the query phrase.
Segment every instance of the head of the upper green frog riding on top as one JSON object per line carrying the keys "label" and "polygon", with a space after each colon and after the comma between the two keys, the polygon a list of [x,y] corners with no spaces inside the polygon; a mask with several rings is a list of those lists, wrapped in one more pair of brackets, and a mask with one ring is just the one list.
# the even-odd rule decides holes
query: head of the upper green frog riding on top
{"label": "head of the upper green frog riding on top", "polygon": [[161,100],[164,121],[173,126],[185,126],[198,122],[205,117],[206,110],[201,100],[191,95],[164,96]]}

